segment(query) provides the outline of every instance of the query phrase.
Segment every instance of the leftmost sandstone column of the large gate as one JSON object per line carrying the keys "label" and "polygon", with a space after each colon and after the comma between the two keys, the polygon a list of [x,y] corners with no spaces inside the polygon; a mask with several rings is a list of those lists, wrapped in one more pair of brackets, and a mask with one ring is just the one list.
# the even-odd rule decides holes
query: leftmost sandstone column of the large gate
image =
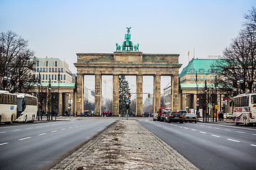
{"label": "leftmost sandstone column of the large gate", "polygon": [[82,111],[84,110],[84,75],[78,74],[77,79],[77,113],[81,115]]}

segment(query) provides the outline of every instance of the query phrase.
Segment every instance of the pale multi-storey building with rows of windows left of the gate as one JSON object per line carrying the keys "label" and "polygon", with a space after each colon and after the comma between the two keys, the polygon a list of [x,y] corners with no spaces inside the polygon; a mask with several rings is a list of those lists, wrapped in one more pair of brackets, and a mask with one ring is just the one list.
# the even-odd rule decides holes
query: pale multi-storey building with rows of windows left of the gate
{"label": "pale multi-storey building with rows of windows left of the gate", "polygon": [[36,67],[33,74],[36,79],[41,76],[41,82],[58,83],[58,74],[60,74],[60,83],[75,83],[75,74],[68,69],[68,64],[58,58],[37,58]]}

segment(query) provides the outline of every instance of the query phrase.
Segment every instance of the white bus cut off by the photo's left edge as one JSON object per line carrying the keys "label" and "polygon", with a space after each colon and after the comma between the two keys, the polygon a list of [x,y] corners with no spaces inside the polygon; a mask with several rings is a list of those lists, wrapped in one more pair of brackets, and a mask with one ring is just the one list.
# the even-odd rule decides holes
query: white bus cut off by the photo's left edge
{"label": "white bus cut off by the photo's left edge", "polygon": [[12,123],[16,120],[17,95],[9,91],[0,91],[0,123]]}

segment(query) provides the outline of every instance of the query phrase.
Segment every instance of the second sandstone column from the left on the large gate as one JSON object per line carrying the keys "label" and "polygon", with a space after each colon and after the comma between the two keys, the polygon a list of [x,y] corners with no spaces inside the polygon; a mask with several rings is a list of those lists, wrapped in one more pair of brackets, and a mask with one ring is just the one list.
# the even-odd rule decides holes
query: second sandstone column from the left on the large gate
{"label": "second sandstone column from the left on the large gate", "polygon": [[95,115],[101,115],[102,106],[102,76],[95,74]]}

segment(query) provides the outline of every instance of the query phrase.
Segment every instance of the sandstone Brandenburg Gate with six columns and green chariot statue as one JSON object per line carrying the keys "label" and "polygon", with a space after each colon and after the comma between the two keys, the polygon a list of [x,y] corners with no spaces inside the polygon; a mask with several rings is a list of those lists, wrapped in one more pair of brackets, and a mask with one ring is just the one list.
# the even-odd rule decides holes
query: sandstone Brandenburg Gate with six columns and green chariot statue
{"label": "sandstone Brandenburg Gate with six columns and green chariot statue", "polygon": [[[144,54],[139,52],[139,44],[132,44],[131,35],[127,28],[124,42],[116,44],[117,50],[113,53],[77,53],[77,113],[84,111],[84,76],[95,75],[95,115],[101,115],[102,104],[102,75],[113,76],[113,115],[119,114],[119,76],[136,76],[136,115],[142,115],[143,76],[154,77],[154,113],[161,106],[161,76],[171,77],[171,106],[173,111],[180,109],[178,94],[178,63],[176,54]],[[149,83],[149,82],[146,82]]]}

